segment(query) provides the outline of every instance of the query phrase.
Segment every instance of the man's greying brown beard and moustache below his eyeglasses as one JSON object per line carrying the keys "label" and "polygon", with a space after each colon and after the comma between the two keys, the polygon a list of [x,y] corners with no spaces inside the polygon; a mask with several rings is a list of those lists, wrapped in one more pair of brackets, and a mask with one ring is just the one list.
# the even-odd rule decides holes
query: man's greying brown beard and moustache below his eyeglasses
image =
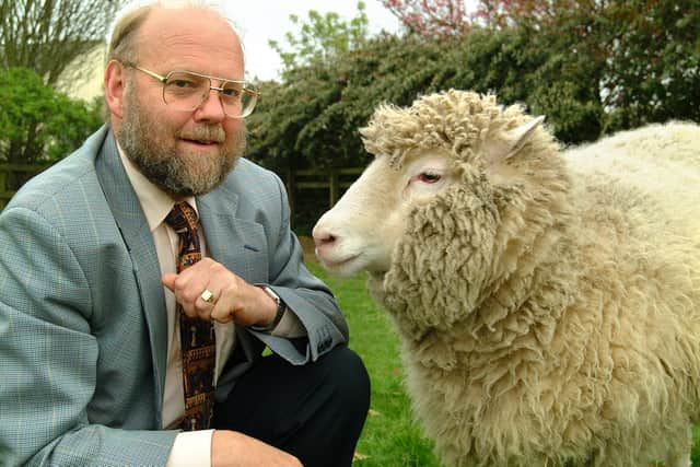
{"label": "man's greying brown beard and moustache below his eyeglasses", "polygon": [[[161,144],[152,136],[159,135],[159,126],[144,118],[138,98],[127,91],[125,115],[119,131],[116,132],[117,141],[126,155],[133,162],[139,171],[154,185],[170,195],[189,197],[205,195],[226,179],[236,161],[245,151],[245,129],[237,131],[233,142],[220,145],[218,155],[182,154],[173,147]],[[199,126],[190,138],[215,139],[223,141],[224,132],[217,125]],[[192,167],[192,164],[199,167]],[[192,170],[199,168],[199,170]]]}

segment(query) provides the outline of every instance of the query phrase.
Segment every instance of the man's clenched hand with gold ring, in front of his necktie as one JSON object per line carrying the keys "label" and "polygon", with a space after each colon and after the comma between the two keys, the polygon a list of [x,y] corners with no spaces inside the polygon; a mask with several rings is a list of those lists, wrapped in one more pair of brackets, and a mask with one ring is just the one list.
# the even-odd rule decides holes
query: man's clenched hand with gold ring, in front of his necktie
{"label": "man's clenched hand with gold ring, in front of his necktie", "polygon": [[[265,291],[211,258],[203,258],[178,275],[163,275],[162,282],[175,293],[189,317],[266,326],[277,313],[277,303]],[[212,303],[201,297],[205,290],[213,294]]]}

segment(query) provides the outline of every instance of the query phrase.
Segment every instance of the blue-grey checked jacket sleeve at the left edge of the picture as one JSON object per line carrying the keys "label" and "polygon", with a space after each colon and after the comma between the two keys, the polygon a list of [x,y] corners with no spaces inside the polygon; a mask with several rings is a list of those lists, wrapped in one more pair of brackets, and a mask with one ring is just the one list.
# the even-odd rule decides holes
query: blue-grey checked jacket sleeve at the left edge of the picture
{"label": "blue-grey checked jacket sleeve at the left edge of the picture", "polygon": [[92,310],[85,272],[60,232],[31,209],[5,208],[0,465],[165,465],[176,432],[91,423],[101,351],[91,332]]}

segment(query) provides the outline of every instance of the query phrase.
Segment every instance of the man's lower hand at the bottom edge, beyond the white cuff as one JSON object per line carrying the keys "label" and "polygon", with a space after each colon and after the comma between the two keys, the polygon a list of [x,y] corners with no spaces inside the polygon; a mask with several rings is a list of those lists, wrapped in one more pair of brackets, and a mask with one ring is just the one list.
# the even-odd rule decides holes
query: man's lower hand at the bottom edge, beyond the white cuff
{"label": "man's lower hand at the bottom edge, beyond the white cuff", "polygon": [[212,467],[303,467],[291,454],[236,431],[217,430],[211,440]]}

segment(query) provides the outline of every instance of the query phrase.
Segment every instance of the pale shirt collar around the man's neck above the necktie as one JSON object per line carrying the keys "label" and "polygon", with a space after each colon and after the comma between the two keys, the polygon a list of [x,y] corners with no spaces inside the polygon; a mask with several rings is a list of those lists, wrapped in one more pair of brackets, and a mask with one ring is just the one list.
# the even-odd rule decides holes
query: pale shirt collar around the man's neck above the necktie
{"label": "pale shirt collar around the man's neck above the necktie", "polygon": [[[133,165],[133,162],[131,162],[131,160],[125,154],[118,141],[117,150],[119,151],[119,157],[124,164],[127,177],[133,187],[133,191],[136,191],[137,198],[139,198],[141,209],[143,209],[143,214],[149,223],[149,229],[153,232],[159,227],[159,225],[161,225],[161,223],[163,223],[167,213],[171,212],[171,209],[175,206],[175,200],[149,180],[145,175],[143,175],[141,171]],[[199,211],[197,211],[197,201],[194,196],[185,198],[184,201],[187,201],[189,206],[195,209],[197,215],[199,215]]]}

